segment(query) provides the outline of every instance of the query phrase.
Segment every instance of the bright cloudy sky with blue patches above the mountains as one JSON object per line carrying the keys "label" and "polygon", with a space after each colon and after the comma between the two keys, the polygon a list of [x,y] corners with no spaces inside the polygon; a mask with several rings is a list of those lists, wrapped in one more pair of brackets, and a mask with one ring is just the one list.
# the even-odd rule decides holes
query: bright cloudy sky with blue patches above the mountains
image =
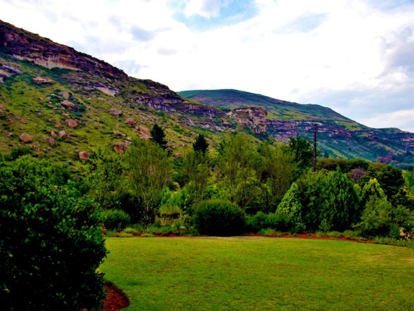
{"label": "bright cloudy sky with blue patches above the mountains", "polygon": [[0,19],[171,90],[414,132],[414,0],[0,0]]}

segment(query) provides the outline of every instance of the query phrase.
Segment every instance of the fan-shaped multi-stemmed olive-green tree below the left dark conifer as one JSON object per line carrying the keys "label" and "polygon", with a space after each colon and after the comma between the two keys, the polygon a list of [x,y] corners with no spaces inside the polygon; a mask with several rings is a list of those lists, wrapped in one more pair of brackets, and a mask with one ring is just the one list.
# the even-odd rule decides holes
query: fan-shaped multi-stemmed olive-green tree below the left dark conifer
{"label": "fan-shaped multi-stemmed olive-green tree below the left dark conifer", "polygon": [[148,140],[136,140],[125,153],[132,191],[140,202],[142,220],[154,220],[157,203],[171,176],[171,162],[160,146]]}

